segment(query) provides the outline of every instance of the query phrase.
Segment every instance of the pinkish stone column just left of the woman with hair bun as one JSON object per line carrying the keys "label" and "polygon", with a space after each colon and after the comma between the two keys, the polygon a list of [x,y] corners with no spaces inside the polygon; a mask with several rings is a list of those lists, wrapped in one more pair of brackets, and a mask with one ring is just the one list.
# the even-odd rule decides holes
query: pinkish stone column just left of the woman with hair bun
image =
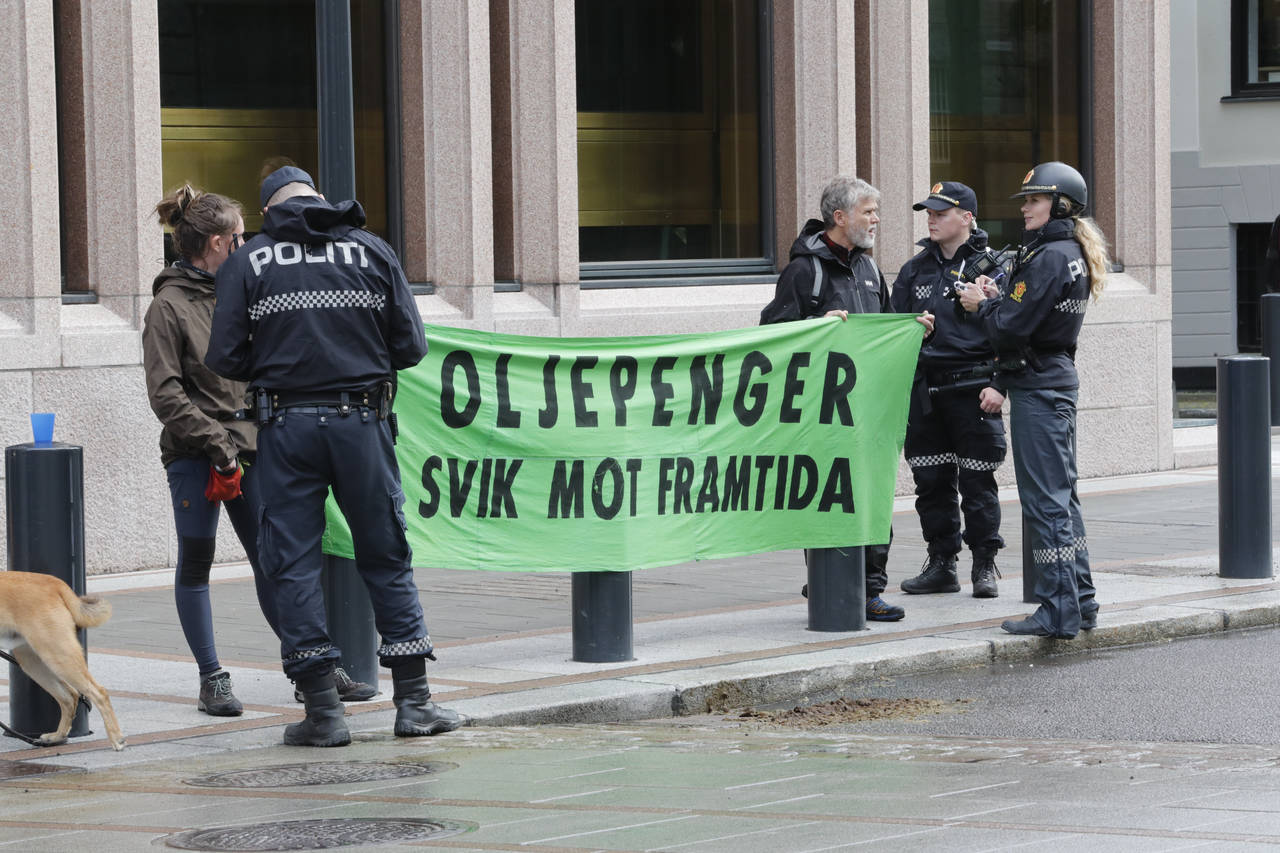
{"label": "pinkish stone column just left of the woman with hair bun", "polygon": [[68,201],[86,210],[90,288],[101,306],[138,328],[164,259],[151,213],[164,192],[156,4],[82,3],[81,22],[83,53],[74,60],[92,81],[82,87],[86,199]]}

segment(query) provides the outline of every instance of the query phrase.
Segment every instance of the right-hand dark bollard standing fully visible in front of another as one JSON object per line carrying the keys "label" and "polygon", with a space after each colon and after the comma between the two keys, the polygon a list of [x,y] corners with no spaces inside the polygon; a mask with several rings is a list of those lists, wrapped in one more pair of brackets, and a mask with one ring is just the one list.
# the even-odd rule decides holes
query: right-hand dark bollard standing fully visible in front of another
{"label": "right-hand dark bollard standing fully visible in front of another", "polygon": [[1270,578],[1271,361],[1217,360],[1217,555],[1220,578]]}

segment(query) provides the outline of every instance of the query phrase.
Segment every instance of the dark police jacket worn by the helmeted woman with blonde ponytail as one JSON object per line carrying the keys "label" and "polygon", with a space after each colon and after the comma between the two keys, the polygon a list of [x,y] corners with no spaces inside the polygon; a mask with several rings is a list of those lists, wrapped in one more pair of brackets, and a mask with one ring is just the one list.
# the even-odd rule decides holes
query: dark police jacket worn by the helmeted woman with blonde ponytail
{"label": "dark police jacket worn by the helmeted woman with blonde ponytail", "polygon": [[1024,356],[1028,366],[1001,374],[1007,388],[1080,386],[1075,342],[1089,301],[1089,268],[1075,242],[1075,222],[1051,219],[1023,234],[1023,248],[998,298],[984,300],[977,315],[1001,359]]}

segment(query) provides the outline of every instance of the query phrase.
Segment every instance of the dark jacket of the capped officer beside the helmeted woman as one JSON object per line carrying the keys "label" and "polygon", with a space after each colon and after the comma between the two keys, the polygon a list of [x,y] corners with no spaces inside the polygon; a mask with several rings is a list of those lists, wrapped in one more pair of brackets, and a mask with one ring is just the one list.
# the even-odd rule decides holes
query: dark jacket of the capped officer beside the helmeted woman
{"label": "dark jacket of the capped officer beside the helmeted woman", "polygon": [[922,240],[919,254],[902,265],[891,297],[899,314],[933,314],[933,334],[920,347],[920,365],[963,366],[991,361],[995,351],[982,323],[965,313],[956,300],[946,298],[955,289],[965,261],[987,247],[987,232],[974,231],[950,260],[932,240]]}

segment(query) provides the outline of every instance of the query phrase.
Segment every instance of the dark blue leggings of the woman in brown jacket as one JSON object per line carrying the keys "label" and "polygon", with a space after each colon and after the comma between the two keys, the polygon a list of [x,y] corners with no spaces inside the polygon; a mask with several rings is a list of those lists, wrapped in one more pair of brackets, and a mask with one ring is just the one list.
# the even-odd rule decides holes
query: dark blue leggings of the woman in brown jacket
{"label": "dark blue leggings of the woman in brown jacket", "polygon": [[[214,616],[209,605],[209,570],[214,564],[218,503],[205,500],[209,460],[178,459],[169,462],[165,473],[169,476],[169,493],[173,496],[174,526],[178,529],[178,574],[173,585],[178,621],[204,678],[220,669],[218,649],[214,647]],[[227,501],[223,506],[227,507],[227,516],[253,567],[257,603],[268,625],[279,635],[275,593],[257,565],[257,494],[253,489],[252,466],[246,466],[241,489],[241,497]]]}

